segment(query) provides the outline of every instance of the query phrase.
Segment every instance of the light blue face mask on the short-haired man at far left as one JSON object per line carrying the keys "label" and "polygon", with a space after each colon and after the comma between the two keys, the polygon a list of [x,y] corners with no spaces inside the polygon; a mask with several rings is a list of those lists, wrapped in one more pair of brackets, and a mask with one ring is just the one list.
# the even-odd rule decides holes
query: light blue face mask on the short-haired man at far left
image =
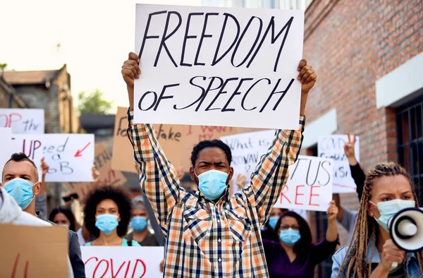
{"label": "light blue face mask on the short-haired man at far left", "polygon": [[25,210],[34,199],[32,187],[35,186],[35,184],[25,179],[16,178],[4,183],[4,189],[16,200],[20,208]]}

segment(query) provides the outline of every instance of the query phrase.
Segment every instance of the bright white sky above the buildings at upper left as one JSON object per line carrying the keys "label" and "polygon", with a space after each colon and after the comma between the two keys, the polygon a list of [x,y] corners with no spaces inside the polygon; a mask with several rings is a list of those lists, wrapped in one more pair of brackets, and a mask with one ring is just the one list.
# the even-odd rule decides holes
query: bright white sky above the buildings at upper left
{"label": "bright white sky above the buildings at upper left", "polygon": [[127,106],[121,65],[134,51],[135,3],[199,6],[201,0],[0,1],[0,63],[16,71],[67,64],[75,99],[99,88]]}

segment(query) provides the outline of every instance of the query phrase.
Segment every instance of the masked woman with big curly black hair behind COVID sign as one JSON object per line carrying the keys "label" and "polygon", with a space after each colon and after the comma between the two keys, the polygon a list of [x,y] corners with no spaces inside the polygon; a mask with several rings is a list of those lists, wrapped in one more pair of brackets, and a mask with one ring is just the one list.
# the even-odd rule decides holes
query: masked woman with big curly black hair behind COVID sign
{"label": "masked woman with big curly black hair behind COVID sign", "polygon": [[140,246],[127,241],[131,212],[130,196],[121,186],[94,188],[85,199],[84,222],[95,237],[85,246]]}

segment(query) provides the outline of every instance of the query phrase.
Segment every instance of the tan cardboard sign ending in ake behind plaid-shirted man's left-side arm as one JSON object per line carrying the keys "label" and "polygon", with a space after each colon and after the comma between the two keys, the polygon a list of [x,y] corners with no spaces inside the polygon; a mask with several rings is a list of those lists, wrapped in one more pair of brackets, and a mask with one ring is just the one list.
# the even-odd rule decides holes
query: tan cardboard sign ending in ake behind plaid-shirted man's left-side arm
{"label": "tan cardboard sign ending in ake behind plaid-shirted man's left-side arm", "polygon": [[[127,135],[127,111],[128,108],[118,107],[116,113],[111,168],[136,173],[134,150]],[[179,167],[183,161],[183,147],[188,136],[188,126],[156,124],[154,130],[167,159],[175,167]]]}

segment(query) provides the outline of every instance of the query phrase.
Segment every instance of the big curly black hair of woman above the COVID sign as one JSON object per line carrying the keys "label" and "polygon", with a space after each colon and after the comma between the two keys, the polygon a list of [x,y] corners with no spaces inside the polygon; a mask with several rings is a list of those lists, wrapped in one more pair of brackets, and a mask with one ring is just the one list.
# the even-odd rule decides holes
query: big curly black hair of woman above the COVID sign
{"label": "big curly black hair of woman above the COVID sign", "polygon": [[122,186],[100,186],[94,188],[87,197],[85,197],[84,223],[88,231],[96,238],[100,235],[100,230],[95,226],[95,214],[97,212],[97,205],[102,200],[110,199],[118,205],[119,215],[121,221],[117,227],[118,236],[121,238],[125,236],[128,231],[130,222],[130,212],[132,210],[132,203],[130,194]]}

